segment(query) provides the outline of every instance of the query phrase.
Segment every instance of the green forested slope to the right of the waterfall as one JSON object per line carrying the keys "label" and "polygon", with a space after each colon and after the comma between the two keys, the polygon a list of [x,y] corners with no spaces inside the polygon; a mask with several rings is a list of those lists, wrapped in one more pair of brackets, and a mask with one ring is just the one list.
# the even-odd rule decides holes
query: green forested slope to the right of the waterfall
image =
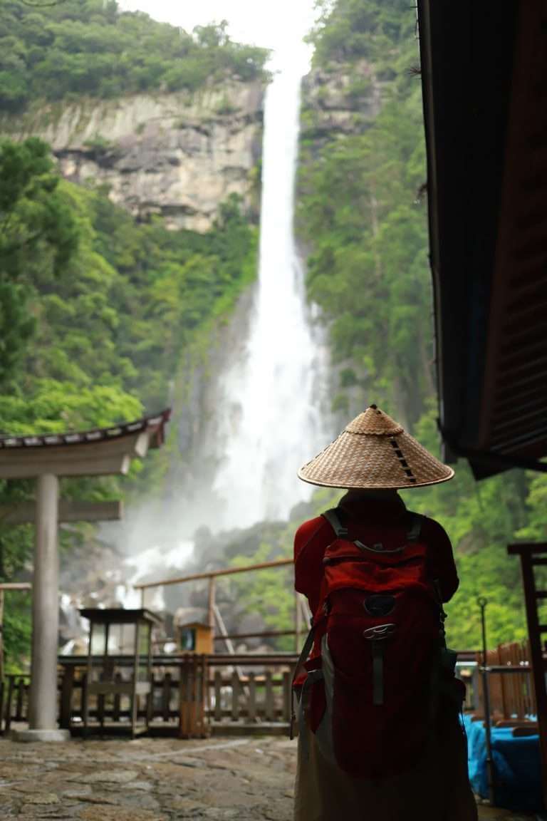
{"label": "green forested slope to the right of the waterfall", "polygon": [[[438,453],[425,146],[415,39],[403,0],[323,4],[305,80],[298,227],[308,294],[330,323],[340,419],[377,402]],[[456,550],[460,591],[449,638],[479,641],[476,597],[489,600],[491,641],[525,635],[517,561],[506,545],[547,536],[545,475],[513,470],[404,493],[438,518]]]}

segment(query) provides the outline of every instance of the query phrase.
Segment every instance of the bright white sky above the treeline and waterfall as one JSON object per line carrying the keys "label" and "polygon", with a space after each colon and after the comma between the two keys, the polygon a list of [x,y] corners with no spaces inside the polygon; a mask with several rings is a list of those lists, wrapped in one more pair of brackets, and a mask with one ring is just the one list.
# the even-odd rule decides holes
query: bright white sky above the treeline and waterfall
{"label": "bright white sky above the treeline and waterfall", "polygon": [[312,27],[313,6],[314,0],[120,0],[126,11],[146,11],[187,31],[227,20],[232,39],[272,48],[277,64],[298,62],[303,69],[309,49],[302,38]]}

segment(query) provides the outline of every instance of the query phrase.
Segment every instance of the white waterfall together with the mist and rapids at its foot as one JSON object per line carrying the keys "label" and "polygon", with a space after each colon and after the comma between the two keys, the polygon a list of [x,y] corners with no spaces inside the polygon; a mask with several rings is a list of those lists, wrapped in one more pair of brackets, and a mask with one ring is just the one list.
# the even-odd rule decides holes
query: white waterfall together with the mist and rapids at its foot
{"label": "white waterfall together with the mist and rapids at its foot", "polygon": [[[298,479],[299,466],[333,438],[326,338],[306,301],[293,231],[306,62],[285,62],[284,53],[276,54],[264,103],[258,281],[237,309],[246,314],[235,319],[244,338],[225,356],[214,386],[217,412],[203,436],[204,453],[209,460],[213,455],[217,469],[212,482],[195,474],[191,493],[175,486],[168,500],[130,508],[125,522],[103,531],[127,555],[127,580],[117,588],[125,607],[140,606],[131,587],[138,580],[173,576],[192,560],[200,565],[193,555],[198,528],[206,527],[218,544],[221,531],[288,520],[291,508],[312,493]],[[174,408],[175,418],[180,410],[184,414]],[[176,589],[180,604],[188,603],[188,586]],[[162,589],[149,591],[146,603],[162,608]]]}

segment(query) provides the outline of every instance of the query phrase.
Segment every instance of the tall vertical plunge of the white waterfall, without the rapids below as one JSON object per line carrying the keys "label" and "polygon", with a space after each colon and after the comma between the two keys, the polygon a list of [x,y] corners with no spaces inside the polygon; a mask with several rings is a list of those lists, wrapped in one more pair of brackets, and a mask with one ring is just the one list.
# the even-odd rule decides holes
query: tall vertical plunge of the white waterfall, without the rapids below
{"label": "tall vertical plunge of the white waterfall, without the rapids below", "polygon": [[325,447],[326,344],[305,299],[294,242],[302,71],[287,64],[264,105],[258,283],[243,357],[221,376],[215,481],[221,525],[285,518],[311,488],[296,473]]}

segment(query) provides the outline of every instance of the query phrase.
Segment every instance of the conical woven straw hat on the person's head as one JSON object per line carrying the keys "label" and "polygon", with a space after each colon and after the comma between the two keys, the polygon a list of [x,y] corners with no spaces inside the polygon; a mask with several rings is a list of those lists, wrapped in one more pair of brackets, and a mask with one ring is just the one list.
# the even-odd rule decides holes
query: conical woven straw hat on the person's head
{"label": "conical woven straw hat on the person's head", "polygon": [[443,465],[382,410],[371,405],[299,470],[326,488],[417,488],[452,479]]}

